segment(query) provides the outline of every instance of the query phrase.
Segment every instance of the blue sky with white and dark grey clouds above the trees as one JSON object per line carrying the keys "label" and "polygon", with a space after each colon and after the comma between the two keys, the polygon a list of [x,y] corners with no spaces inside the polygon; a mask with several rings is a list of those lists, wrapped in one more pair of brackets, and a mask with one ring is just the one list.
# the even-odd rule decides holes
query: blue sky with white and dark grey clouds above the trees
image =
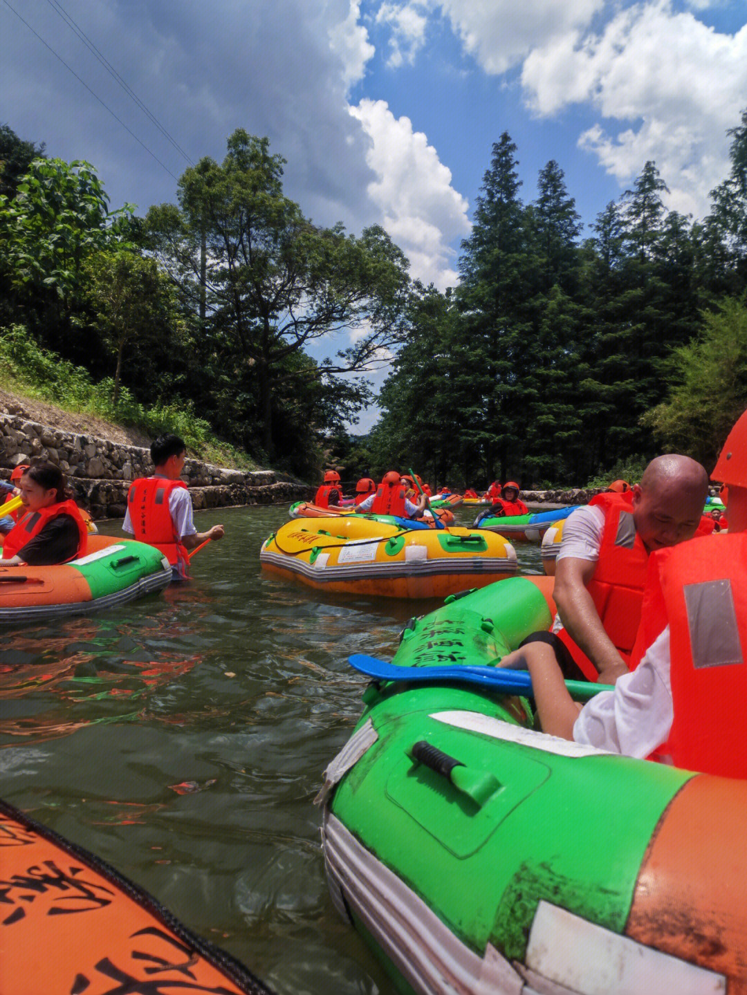
{"label": "blue sky with white and dark grey clouds above the trees", "polygon": [[707,214],[747,108],[747,3],[0,0],[0,94],[0,122],[141,213],[235,128],[267,135],[306,217],[383,225],[446,290],[503,131],[522,199],[555,159],[584,235],[650,159],[669,208]]}

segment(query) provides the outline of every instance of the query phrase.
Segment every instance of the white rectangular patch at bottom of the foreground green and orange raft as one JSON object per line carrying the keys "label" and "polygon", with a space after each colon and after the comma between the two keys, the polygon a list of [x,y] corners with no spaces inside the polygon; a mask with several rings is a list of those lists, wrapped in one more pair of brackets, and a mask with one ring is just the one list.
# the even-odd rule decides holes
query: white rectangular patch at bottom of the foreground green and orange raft
{"label": "white rectangular patch at bottom of the foreground green and orange raft", "polygon": [[540,901],[526,966],[581,995],[723,995],[726,978]]}

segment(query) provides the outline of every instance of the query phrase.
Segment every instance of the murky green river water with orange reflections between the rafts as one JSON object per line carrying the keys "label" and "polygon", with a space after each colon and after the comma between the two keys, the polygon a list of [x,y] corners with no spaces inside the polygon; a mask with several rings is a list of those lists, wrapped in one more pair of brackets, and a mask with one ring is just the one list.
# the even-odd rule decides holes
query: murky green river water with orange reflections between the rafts
{"label": "murky green river water with orange reflections between the rafts", "polygon": [[[284,506],[203,512],[198,528],[222,521],[227,536],[191,584],[0,630],[2,796],[280,995],[389,993],[327,896],[311,799],[360,713],[366,679],[347,656],[390,659],[402,624],[437,603],[322,600],[264,574],[260,545],[286,519]],[[516,548],[541,572],[537,546]]]}

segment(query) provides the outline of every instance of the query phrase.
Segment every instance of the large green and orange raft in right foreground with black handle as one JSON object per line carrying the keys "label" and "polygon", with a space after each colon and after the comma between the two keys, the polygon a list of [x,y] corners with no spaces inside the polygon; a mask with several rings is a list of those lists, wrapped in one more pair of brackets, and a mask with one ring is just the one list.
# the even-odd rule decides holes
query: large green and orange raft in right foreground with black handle
{"label": "large green and orange raft in right foreground with black handle", "polygon": [[[395,663],[494,663],[549,625],[533,581],[414,620]],[[747,782],[545,735],[526,699],[462,682],[364,702],[318,799],[323,852],[399,990],[747,991]]]}

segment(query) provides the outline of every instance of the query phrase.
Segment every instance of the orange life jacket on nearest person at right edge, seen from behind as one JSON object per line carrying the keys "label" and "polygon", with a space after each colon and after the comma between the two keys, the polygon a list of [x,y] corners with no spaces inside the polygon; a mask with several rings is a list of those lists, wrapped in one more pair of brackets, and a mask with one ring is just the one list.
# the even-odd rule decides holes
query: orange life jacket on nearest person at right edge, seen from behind
{"label": "orange life jacket on nearest person at right edge, seen from behind", "polygon": [[747,778],[747,533],[654,553],[657,617],[668,623],[674,718],[657,752],[677,767]]}

